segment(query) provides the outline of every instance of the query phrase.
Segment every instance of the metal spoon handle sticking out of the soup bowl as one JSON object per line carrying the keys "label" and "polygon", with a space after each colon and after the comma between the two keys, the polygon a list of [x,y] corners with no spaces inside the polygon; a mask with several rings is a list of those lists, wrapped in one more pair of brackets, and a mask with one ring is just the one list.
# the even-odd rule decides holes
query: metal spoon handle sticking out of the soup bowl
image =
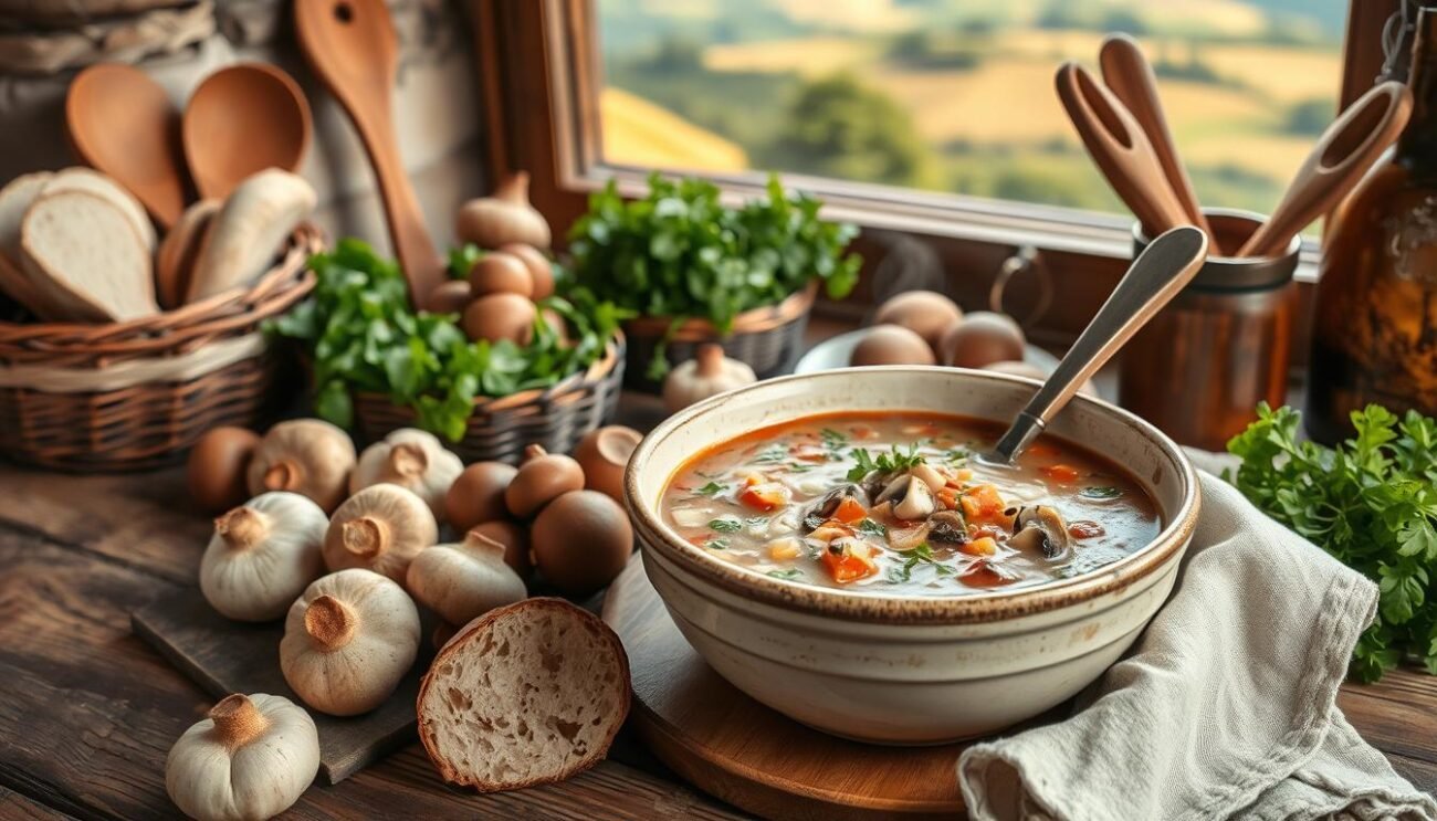
{"label": "metal spoon handle sticking out of the soup bowl", "polygon": [[1078,388],[1106,365],[1132,334],[1186,286],[1207,258],[1207,234],[1180,225],[1152,241],[1134,260],[1108,301],[1098,309],[1058,369],[1013,421],[994,448],[1012,462],[1068,405]]}

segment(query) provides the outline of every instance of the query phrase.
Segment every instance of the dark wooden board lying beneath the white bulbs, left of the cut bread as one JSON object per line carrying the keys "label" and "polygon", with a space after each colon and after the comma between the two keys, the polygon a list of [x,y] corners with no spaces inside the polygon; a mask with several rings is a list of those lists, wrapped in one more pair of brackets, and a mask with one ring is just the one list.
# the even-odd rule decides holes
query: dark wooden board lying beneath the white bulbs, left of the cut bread
{"label": "dark wooden board lying beneath the white bulbs, left of the cut bread", "polygon": [[[231,621],[210,607],[200,588],[184,587],[131,613],[129,623],[137,636],[216,699],[230,693],[270,693],[305,703],[279,669],[283,621]],[[338,784],[415,739],[414,702],[431,656],[430,643],[421,642],[414,669],[374,712],[335,718],[309,710],[319,728],[319,774],[326,782]]]}

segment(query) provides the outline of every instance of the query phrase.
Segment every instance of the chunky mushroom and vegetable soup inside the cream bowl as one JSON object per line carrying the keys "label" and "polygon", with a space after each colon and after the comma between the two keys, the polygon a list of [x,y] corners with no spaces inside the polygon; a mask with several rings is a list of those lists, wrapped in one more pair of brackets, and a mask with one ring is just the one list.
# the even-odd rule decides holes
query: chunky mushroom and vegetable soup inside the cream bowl
{"label": "chunky mushroom and vegetable soup inside the cream bowl", "polygon": [[1151,499],[1117,466],[1052,438],[1017,465],[974,459],[997,433],[928,413],[810,416],[690,461],[664,517],[759,573],[917,596],[1066,578],[1157,537]]}

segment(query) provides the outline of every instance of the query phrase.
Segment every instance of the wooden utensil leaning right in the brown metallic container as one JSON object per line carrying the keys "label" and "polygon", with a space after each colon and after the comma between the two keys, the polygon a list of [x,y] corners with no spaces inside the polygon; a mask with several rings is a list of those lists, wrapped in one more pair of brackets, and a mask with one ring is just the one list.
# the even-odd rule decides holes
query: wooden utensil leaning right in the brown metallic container
{"label": "wooden utensil leaning right in the brown metallic container", "polygon": [[1413,93],[1388,80],[1359,96],[1322,132],[1282,202],[1243,243],[1239,257],[1280,254],[1299,231],[1346,197],[1378,155],[1407,128]]}

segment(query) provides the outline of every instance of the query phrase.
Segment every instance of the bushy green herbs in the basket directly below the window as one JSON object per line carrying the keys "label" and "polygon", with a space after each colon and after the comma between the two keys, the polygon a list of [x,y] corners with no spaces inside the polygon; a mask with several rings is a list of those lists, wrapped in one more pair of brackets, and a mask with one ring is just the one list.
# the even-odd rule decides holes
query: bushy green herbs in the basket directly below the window
{"label": "bushy green herbs in the basket directly below the window", "polygon": [[[569,231],[575,278],[598,299],[671,317],[670,329],[697,317],[727,334],[740,313],[777,304],[813,280],[832,299],[854,290],[861,260],[845,248],[858,228],[821,220],[823,204],[785,192],[777,177],[766,197],[740,208],[723,205],[718,187],[703,179],[652,174],[648,185],[648,195],[625,202],[609,181]],[[651,377],[667,372],[661,353]]]}

